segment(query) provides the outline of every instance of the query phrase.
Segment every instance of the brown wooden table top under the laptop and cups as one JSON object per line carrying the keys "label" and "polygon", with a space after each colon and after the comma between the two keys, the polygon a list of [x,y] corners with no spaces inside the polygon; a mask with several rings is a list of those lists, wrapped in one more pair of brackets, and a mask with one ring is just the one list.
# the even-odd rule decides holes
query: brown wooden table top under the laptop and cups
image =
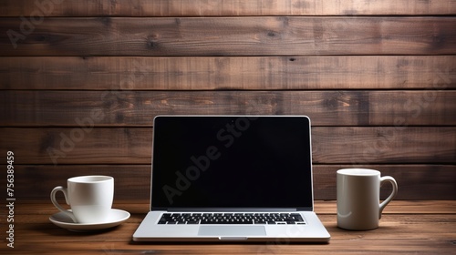
{"label": "brown wooden table top under the laptop and cups", "polygon": [[49,221],[57,212],[50,201],[15,201],[14,247],[5,233],[8,210],[2,209],[1,254],[328,254],[328,253],[456,253],[456,200],[392,201],[378,230],[340,230],[336,202],[316,201],[316,213],[331,233],[329,244],[289,243],[136,243],[131,235],[148,210],[148,201],[117,202],[130,211],[128,221],[112,230],[80,233]]}

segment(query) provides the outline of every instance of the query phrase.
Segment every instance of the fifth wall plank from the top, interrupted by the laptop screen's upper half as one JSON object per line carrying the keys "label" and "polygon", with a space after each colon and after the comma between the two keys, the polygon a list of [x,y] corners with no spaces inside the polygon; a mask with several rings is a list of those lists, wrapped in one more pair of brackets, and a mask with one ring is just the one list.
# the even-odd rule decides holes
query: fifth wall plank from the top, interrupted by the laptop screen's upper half
{"label": "fifth wall plank from the top, interrupted by the laptop screen's upper half", "polygon": [[[0,128],[16,164],[150,164],[152,128]],[[349,146],[347,146],[349,144]],[[314,127],[315,164],[453,164],[454,127]]]}

